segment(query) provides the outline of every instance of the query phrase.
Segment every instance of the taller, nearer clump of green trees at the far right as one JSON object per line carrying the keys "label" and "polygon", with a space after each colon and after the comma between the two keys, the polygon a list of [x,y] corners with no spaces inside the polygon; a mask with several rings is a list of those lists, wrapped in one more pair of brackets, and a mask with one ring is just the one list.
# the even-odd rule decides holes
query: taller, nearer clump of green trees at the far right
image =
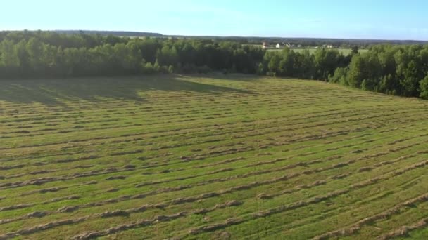
{"label": "taller, nearer clump of green trees at the far right", "polygon": [[329,81],[368,91],[428,98],[428,46],[373,46],[353,55]]}

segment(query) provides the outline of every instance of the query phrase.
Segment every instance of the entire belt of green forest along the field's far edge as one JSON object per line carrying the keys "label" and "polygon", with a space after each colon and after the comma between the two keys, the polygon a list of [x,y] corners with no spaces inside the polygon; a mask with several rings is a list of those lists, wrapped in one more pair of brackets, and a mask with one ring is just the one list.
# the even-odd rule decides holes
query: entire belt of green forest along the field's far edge
{"label": "entire belt of green forest along the field's far edge", "polygon": [[113,76],[211,71],[330,81],[428,98],[428,46],[386,45],[342,55],[264,51],[240,41],[130,38],[58,32],[0,32],[0,78]]}

